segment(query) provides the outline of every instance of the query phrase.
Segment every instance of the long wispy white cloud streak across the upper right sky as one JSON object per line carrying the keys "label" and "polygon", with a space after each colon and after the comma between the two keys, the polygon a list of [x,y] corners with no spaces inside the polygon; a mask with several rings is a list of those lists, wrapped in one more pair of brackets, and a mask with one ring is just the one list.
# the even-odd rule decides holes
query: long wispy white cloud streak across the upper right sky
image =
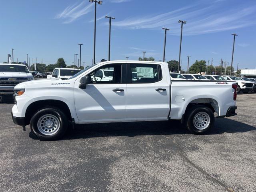
{"label": "long wispy white cloud streak across the upper right sky", "polygon": [[[248,8],[236,8],[223,11],[214,9],[213,6],[197,8],[198,6],[188,6],[171,12],[137,16],[113,22],[113,26],[125,29],[161,29],[167,27],[169,34],[179,35],[180,24],[178,20],[186,20],[184,25],[184,35],[198,35],[225,30],[243,28],[256,24],[256,6]],[[248,19],[250,18],[250,19]]]}

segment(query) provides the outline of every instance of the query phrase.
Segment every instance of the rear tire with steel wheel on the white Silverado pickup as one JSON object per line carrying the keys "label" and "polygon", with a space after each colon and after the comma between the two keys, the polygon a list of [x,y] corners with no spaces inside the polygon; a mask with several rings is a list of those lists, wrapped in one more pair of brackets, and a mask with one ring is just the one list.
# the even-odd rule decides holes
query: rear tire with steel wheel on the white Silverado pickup
{"label": "rear tire with steel wheel on the white Silverado pickup", "polygon": [[[196,117],[200,117],[200,119],[202,119],[202,124],[196,121]],[[195,122],[194,118],[196,118]],[[208,119],[208,121],[206,121],[205,118]],[[192,134],[206,134],[214,126],[214,121],[215,118],[212,110],[202,105],[196,105],[191,107],[189,110],[187,110],[185,114],[185,126]]]}

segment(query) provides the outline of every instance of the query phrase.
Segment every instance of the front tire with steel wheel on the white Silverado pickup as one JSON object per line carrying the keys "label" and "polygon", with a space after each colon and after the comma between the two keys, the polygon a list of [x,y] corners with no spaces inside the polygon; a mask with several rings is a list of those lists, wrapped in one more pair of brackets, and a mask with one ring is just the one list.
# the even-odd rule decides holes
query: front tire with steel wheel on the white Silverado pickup
{"label": "front tire with steel wheel on the white Silverado pickup", "polygon": [[[56,122],[56,124],[58,124],[59,126],[55,128],[55,124],[54,124],[54,126],[51,128],[44,127],[46,126],[46,121],[42,124],[44,119],[46,119],[46,118],[42,118],[44,116],[46,116],[46,118],[53,117],[53,120],[48,118],[49,121],[52,121],[52,123]],[[46,120],[48,121],[48,119]],[[38,127],[38,124],[39,124],[39,127]],[[68,128],[68,118],[62,111],[60,111],[57,108],[42,108],[38,110],[30,120],[31,131],[40,140],[57,140],[59,138],[62,138],[67,128]]]}

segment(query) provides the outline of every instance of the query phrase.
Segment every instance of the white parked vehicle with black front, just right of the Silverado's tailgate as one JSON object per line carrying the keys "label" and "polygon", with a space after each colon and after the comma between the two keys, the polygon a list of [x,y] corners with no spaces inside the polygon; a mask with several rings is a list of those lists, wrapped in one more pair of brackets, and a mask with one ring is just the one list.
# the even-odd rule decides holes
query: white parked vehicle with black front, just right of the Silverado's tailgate
{"label": "white parked vehicle with black front, just right of the Silverado's tailgate", "polygon": [[236,92],[239,93],[240,91],[242,91],[243,93],[248,93],[251,92],[253,90],[253,84],[251,81],[245,81],[245,80],[240,80],[239,78],[235,77],[235,76],[230,76],[230,75],[226,75],[226,76],[222,76],[225,80],[228,81],[235,81],[238,85]]}

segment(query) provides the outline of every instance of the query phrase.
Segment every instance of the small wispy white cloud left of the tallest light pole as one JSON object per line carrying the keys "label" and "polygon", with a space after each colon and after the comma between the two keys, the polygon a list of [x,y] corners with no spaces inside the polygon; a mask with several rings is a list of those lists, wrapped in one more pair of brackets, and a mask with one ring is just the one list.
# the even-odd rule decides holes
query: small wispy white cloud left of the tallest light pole
{"label": "small wispy white cloud left of the tallest light pole", "polygon": [[63,23],[71,23],[82,15],[85,15],[91,12],[93,3],[90,3],[86,6],[87,2],[82,1],[80,4],[74,4],[72,6],[68,6],[61,13],[56,15],[56,19],[64,19]]}

